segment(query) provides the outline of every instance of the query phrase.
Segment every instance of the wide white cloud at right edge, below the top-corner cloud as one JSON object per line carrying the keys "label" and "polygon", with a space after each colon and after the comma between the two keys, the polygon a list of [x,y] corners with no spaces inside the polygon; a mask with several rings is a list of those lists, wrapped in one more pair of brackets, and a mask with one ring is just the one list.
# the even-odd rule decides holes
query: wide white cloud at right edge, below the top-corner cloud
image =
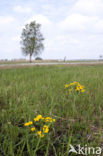
{"label": "wide white cloud at right edge, below the top-corner cloud", "polygon": [[59,25],[64,32],[103,33],[103,19],[98,16],[71,14]]}

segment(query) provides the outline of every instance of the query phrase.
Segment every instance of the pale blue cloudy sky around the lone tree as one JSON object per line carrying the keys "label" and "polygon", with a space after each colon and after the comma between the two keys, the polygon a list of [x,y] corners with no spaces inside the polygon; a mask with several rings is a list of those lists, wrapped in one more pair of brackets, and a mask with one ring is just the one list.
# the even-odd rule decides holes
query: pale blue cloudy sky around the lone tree
{"label": "pale blue cloudy sky around the lone tree", "polygon": [[103,55],[103,0],[0,0],[0,59],[28,59],[20,36],[34,20],[45,38],[43,59]]}

